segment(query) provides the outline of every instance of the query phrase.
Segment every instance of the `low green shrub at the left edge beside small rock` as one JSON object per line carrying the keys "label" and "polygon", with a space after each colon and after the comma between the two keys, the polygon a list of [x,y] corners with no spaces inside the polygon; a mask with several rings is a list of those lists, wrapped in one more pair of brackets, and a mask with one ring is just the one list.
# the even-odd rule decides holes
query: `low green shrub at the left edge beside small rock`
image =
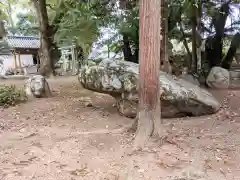
{"label": "low green shrub at the left edge beside small rock", "polygon": [[17,89],[15,86],[0,87],[0,106],[14,106],[26,100],[27,95],[22,89]]}

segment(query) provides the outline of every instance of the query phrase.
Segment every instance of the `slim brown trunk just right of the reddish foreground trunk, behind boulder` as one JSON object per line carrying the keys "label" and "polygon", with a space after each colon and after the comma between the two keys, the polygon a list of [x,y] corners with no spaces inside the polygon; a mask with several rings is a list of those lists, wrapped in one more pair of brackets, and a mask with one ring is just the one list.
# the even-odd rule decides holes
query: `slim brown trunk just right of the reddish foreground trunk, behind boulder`
{"label": "slim brown trunk just right of the reddish foreground trunk, behind boulder", "polygon": [[172,73],[172,68],[168,60],[168,3],[167,0],[161,0],[161,57],[163,60],[163,71]]}

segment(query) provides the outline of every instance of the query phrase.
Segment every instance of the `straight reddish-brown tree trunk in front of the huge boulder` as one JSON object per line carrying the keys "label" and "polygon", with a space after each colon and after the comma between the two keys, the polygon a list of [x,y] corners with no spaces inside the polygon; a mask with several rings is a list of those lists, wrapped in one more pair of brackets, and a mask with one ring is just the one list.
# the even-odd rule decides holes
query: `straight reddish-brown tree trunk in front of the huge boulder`
{"label": "straight reddish-brown tree trunk in front of the huge boulder", "polygon": [[140,0],[139,113],[135,147],[161,133],[159,91],[161,13],[159,0]]}

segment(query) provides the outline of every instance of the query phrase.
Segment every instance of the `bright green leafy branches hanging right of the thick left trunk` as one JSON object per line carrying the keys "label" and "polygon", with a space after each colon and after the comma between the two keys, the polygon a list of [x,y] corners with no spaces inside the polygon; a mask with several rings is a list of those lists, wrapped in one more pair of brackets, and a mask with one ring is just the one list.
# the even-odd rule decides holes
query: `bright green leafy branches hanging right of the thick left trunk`
{"label": "bright green leafy branches hanging right of the thick left trunk", "polygon": [[58,2],[58,5],[55,5],[56,11],[50,10],[51,21],[58,27],[55,35],[57,43],[61,45],[74,43],[83,49],[85,55],[88,54],[92,44],[100,36],[100,28],[109,21],[106,18],[108,9],[104,5],[99,1]]}

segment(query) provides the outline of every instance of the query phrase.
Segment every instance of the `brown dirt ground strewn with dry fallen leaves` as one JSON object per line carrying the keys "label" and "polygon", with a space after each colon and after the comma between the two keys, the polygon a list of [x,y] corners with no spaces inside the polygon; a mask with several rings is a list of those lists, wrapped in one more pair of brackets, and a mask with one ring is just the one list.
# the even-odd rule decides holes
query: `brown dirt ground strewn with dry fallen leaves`
{"label": "brown dirt ground strewn with dry fallen leaves", "polygon": [[240,179],[240,91],[212,91],[218,114],[164,120],[164,145],[153,138],[129,156],[133,134],[119,129],[133,120],[111,97],[84,90],[76,77],[49,83],[54,97],[0,109],[0,180]]}

